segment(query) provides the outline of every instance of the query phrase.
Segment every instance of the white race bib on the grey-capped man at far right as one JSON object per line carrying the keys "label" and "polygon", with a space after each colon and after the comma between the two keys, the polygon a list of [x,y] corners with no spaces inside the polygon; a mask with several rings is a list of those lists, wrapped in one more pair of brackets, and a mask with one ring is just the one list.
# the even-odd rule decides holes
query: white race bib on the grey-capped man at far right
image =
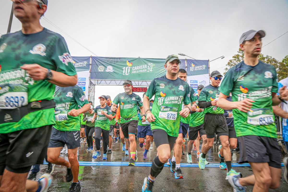
{"label": "white race bib on the grey-capped man at far right", "polygon": [[274,114],[268,108],[250,109],[247,112],[247,123],[251,125],[270,125],[274,122]]}

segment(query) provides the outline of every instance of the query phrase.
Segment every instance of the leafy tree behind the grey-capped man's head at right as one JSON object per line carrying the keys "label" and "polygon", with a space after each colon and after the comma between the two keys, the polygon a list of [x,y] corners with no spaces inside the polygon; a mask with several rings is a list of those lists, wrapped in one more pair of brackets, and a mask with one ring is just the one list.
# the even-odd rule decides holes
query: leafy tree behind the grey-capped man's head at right
{"label": "leafy tree behind the grey-capped man's head at right", "polygon": [[[230,59],[228,63],[226,64],[227,67],[224,69],[226,72],[232,66],[240,63],[244,59],[244,52],[240,48],[237,53],[238,54],[232,56],[232,59]],[[259,54],[258,59],[264,63],[274,66],[279,81],[288,77],[288,55],[285,56],[282,62],[279,62],[277,59],[272,58],[269,55],[264,56],[262,53]]]}

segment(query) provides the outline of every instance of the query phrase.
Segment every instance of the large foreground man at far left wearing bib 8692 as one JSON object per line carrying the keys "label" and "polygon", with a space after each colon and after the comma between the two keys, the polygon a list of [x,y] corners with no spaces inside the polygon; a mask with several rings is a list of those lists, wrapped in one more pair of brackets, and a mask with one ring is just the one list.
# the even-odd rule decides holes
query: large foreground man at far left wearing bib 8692
{"label": "large foreground man at far left wearing bib 8692", "polygon": [[[47,4],[13,0],[22,29],[0,38],[0,191],[24,189],[31,166],[43,164],[55,124],[55,84],[77,83],[64,38],[39,22]],[[51,179],[45,174],[41,180]],[[27,181],[26,186],[38,187],[39,182]]]}

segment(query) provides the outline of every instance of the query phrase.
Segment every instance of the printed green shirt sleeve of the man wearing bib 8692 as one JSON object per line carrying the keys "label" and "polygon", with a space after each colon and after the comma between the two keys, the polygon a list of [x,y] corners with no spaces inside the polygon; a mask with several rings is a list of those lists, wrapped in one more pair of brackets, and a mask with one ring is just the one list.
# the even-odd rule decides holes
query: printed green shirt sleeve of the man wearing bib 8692
{"label": "printed green shirt sleeve of the man wearing bib 8692", "polygon": [[51,61],[56,65],[56,71],[69,76],[77,74],[66,41],[62,36],[55,43]]}

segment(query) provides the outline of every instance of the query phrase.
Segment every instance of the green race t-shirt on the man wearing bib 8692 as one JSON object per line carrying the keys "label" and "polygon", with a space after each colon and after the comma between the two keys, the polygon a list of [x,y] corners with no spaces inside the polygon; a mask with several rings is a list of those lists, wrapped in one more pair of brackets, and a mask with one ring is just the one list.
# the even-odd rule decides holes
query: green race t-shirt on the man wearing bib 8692
{"label": "green race t-shirt on the man wearing bib 8692", "polygon": [[[64,38],[46,28],[39,33],[25,35],[21,31],[2,35],[0,38],[0,108],[12,109],[37,100],[51,100],[55,85],[46,80],[34,81],[23,64],[42,67],[76,75],[73,60]],[[21,88],[20,91],[15,89]],[[5,98],[7,101],[5,102]],[[4,119],[5,120],[5,119]],[[54,108],[31,112],[18,122],[0,124],[0,133],[54,125]]]}

